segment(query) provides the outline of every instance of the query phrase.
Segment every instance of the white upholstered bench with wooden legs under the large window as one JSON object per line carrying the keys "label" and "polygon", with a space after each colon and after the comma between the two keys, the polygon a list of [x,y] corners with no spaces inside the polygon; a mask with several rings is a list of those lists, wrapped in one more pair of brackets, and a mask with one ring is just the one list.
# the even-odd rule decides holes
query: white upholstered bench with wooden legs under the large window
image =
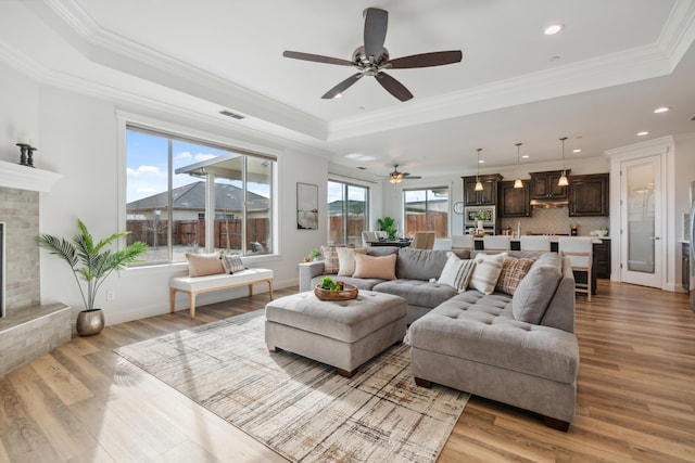
{"label": "white upholstered bench with wooden legs under the large window", "polygon": [[249,286],[249,296],[253,296],[254,283],[268,283],[268,293],[273,299],[273,270],[244,269],[235,273],[218,273],[204,276],[173,276],[169,279],[169,304],[174,312],[176,293],[188,293],[191,319],[195,318],[195,296],[211,291]]}

